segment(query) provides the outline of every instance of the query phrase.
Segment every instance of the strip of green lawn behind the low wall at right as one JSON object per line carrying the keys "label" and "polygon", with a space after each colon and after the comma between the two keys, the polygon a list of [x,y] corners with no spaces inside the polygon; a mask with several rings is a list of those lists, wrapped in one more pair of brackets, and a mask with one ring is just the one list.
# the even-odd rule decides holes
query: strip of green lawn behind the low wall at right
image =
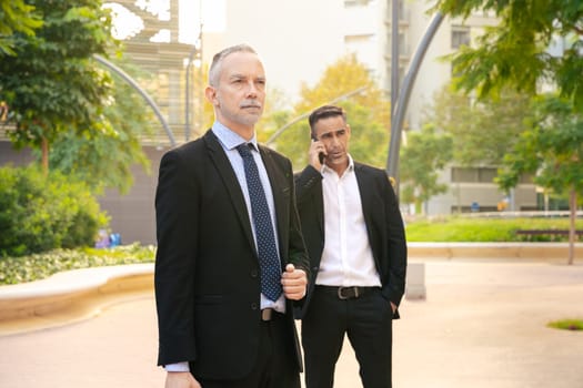
{"label": "strip of green lawn behind the low wall at right", "polygon": [[[517,235],[519,229],[569,229],[569,218],[478,218],[452,216],[440,219],[408,222],[408,242],[551,242],[565,241],[566,236],[541,235],[534,238]],[[583,219],[577,219],[583,229]]]}

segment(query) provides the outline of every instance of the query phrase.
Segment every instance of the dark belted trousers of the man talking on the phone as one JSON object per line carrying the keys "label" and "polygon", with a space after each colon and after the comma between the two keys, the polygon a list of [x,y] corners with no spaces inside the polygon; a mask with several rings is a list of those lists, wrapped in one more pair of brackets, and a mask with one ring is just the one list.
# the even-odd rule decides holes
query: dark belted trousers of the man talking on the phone
{"label": "dark belted trousers of the man talking on the phone", "polygon": [[380,288],[340,299],[330,287],[315,286],[302,319],[306,388],[332,388],[344,334],[360,366],[364,388],[391,387],[392,309]]}

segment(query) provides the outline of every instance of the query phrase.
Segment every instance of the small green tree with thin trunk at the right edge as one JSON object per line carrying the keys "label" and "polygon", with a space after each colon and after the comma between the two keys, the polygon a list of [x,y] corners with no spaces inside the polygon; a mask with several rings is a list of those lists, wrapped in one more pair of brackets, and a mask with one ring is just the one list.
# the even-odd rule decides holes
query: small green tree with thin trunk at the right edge
{"label": "small green tree with thin trunk at the right edge", "polygon": [[577,195],[583,194],[583,114],[573,114],[572,101],[556,95],[541,96],[533,105],[530,129],[504,157],[496,181],[509,190],[522,173],[531,173],[540,186],[569,194],[569,264],[573,264]]}

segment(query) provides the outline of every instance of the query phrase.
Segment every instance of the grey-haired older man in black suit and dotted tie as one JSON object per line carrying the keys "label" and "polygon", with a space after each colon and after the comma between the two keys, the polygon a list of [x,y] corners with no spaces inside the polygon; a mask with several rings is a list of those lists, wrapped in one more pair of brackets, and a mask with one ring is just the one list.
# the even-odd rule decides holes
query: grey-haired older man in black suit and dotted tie
{"label": "grey-haired older man in black suit and dotted tie", "polygon": [[165,386],[299,388],[292,300],[308,256],[291,163],[258,145],[265,74],[249,45],[209,71],[215,122],[169,151],[155,196],[159,365]]}

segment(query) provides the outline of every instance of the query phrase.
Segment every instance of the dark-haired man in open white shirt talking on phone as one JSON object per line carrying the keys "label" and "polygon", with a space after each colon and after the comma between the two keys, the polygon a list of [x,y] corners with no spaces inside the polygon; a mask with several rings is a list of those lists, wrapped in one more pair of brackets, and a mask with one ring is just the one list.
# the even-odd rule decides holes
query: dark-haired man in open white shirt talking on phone
{"label": "dark-haired man in open white shirt talking on phone", "polygon": [[392,319],[404,293],[406,243],[386,173],[352,160],[340,106],[309,118],[309,165],[295,176],[310,256],[302,345],[306,388],[332,388],[344,335],[364,388],[392,386]]}

